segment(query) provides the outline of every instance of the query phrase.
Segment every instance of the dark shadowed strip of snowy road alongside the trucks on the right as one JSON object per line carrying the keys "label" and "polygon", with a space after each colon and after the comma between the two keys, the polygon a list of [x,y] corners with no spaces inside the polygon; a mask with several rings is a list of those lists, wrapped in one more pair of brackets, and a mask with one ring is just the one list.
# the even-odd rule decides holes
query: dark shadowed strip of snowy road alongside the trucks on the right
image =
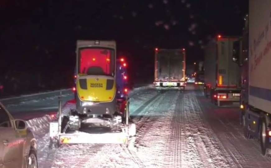
{"label": "dark shadowed strip of snowy road alongside the trucks on the right", "polygon": [[247,140],[236,118],[230,120],[236,109],[216,107],[201,96],[199,98],[213,131],[238,167],[270,167],[271,158],[261,155],[258,140]]}

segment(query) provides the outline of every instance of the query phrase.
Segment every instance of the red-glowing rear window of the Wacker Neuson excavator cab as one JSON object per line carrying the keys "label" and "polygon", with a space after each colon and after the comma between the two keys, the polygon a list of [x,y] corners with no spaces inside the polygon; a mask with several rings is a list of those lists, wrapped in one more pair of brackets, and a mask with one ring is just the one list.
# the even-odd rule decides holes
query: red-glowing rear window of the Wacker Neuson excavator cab
{"label": "red-glowing rear window of the Wacker Neuson excavator cab", "polygon": [[78,72],[88,75],[114,76],[114,50],[104,48],[79,49]]}

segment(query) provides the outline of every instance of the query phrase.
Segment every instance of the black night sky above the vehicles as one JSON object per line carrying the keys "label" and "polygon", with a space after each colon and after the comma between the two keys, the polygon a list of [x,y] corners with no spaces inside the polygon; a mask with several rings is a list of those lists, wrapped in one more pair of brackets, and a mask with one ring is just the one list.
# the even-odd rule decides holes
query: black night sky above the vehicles
{"label": "black night sky above the vehicles", "polygon": [[214,35],[240,35],[248,1],[3,0],[0,11],[2,70],[70,70],[77,39],[114,39],[132,72],[152,75],[155,47],[185,47],[194,62]]}

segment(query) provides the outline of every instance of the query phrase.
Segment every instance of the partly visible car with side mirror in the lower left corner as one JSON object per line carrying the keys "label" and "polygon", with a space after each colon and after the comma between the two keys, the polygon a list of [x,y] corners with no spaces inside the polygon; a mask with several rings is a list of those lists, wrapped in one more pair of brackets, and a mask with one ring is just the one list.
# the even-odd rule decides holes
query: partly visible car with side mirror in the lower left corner
{"label": "partly visible car with side mirror in the lower left corner", "polygon": [[0,102],[0,168],[37,168],[37,142],[25,121]]}

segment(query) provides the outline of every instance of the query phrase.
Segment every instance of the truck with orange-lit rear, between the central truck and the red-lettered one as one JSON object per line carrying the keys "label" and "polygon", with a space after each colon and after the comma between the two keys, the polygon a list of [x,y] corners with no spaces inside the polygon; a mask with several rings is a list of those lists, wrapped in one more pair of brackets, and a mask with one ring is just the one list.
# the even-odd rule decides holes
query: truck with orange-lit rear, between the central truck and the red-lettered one
{"label": "truck with orange-lit rear, between the central truck and the red-lettered one", "polygon": [[241,70],[232,61],[233,43],[237,40],[218,35],[204,51],[204,95],[218,106],[240,103]]}

